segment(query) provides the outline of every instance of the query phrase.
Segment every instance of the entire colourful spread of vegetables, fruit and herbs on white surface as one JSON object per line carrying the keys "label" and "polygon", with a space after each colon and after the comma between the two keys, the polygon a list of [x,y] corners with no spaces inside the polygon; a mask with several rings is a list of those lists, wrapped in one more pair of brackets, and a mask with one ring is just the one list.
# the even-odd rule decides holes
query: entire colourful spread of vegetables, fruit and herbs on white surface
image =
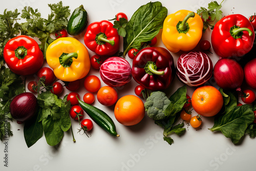
{"label": "entire colourful spread of vegetables, fruit and herbs on white surface", "polygon": [[[204,117],[214,117],[209,130],[221,131],[233,143],[240,142],[246,133],[255,137],[255,93],[251,90],[256,82],[255,56],[242,60],[256,49],[254,18],[241,14],[222,17],[221,4],[214,1],[197,13],[179,10],[167,16],[167,8],[160,2],[150,2],[139,7],[131,19],[120,12],[113,23],[104,18],[89,25],[83,5],[70,15],[62,2],[50,4],[48,19],[31,7],[25,7],[21,15],[17,10],[5,10],[0,15],[1,140],[5,118],[8,136],[12,135],[9,120],[24,124],[30,147],[42,135],[49,145],[57,145],[69,130],[75,142],[71,119],[78,121],[78,130],[84,133],[96,123],[119,137],[115,123],[133,126],[145,114],[163,128],[168,144],[174,143],[171,134],[184,134],[185,122],[197,129]],[[17,23],[19,15],[25,23]],[[211,44],[201,40],[209,26]],[[156,46],[160,29],[166,48]],[[72,37],[77,35],[82,35],[85,46]],[[220,57],[215,64],[206,54],[211,45]],[[91,52],[94,55],[90,57]],[[177,52],[181,55],[175,64],[172,53]],[[128,59],[124,59],[126,54]],[[43,66],[44,59],[50,68]],[[98,71],[100,78],[88,75],[90,70]],[[27,84],[25,76],[32,74],[37,78]],[[172,88],[175,76],[184,84],[177,90]],[[210,78],[217,85],[209,82]],[[138,83],[137,96],[119,98],[121,88],[129,86],[132,79]],[[31,93],[25,92],[26,84]],[[79,92],[81,84],[87,91],[84,95]],[[196,88],[191,98],[187,86]],[[242,86],[251,89],[242,90]],[[69,93],[62,96],[64,87]],[[167,97],[167,91],[174,93]],[[95,99],[105,108],[114,106],[115,119],[94,106]],[[238,105],[239,101],[244,104]],[[83,119],[87,115],[93,121]]]}

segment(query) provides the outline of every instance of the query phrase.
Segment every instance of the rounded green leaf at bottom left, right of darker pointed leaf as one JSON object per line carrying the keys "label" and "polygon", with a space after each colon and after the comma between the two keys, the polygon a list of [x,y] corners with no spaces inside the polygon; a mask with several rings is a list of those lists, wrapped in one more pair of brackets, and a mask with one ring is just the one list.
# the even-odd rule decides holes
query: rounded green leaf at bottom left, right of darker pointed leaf
{"label": "rounded green leaf at bottom left, right of darker pointed leaf", "polygon": [[42,120],[46,141],[51,146],[57,145],[63,137],[64,133],[61,130],[60,124],[60,119],[53,120],[52,118],[48,118]]}

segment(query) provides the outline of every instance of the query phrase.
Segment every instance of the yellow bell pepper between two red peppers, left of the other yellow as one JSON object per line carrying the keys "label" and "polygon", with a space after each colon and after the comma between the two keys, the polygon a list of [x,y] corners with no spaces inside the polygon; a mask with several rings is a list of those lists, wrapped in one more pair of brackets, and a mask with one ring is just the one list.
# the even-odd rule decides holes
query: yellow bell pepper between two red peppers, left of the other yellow
{"label": "yellow bell pepper between two red peppers, left of the other yellow", "polygon": [[62,81],[81,79],[91,67],[87,48],[73,37],[54,40],[47,48],[46,60],[55,76]]}

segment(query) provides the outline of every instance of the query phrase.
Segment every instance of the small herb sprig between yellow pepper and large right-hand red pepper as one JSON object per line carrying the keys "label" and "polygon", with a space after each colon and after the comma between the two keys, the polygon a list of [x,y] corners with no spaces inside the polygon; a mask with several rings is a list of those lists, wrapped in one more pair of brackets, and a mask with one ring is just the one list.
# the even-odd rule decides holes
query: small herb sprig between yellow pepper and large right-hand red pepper
{"label": "small herb sprig between yellow pepper and large right-hand red pepper", "polygon": [[203,19],[204,32],[208,27],[210,27],[210,29],[214,29],[215,24],[222,18],[222,11],[220,9],[223,1],[220,4],[218,4],[217,1],[212,1],[208,4],[208,9],[200,7],[197,10],[197,14],[199,14]]}

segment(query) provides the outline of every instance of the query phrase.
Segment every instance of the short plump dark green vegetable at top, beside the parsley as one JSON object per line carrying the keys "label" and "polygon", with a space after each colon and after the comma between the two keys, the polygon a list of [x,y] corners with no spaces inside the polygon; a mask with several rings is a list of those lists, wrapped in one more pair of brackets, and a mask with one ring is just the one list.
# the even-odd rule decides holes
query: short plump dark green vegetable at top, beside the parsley
{"label": "short plump dark green vegetable at top, beside the parsley", "polygon": [[72,36],[79,35],[86,28],[87,24],[88,13],[83,8],[83,5],[81,5],[80,7],[76,8],[70,16],[67,32]]}

